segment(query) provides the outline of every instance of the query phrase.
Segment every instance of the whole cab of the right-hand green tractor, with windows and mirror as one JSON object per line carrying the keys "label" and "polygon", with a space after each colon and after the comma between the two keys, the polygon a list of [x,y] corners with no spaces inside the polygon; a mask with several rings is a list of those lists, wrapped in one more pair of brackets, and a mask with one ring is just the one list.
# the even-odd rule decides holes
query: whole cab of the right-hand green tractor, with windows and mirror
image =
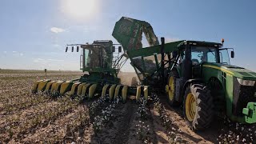
{"label": "whole cab of the right-hand green tractor, with windows and mirror", "polygon": [[[230,65],[229,49],[222,48],[222,44],[216,42],[182,42],[179,45],[182,55],[180,57],[182,75],[186,75],[187,79],[201,78],[204,64]],[[231,51],[231,58],[234,58],[234,51]]]}

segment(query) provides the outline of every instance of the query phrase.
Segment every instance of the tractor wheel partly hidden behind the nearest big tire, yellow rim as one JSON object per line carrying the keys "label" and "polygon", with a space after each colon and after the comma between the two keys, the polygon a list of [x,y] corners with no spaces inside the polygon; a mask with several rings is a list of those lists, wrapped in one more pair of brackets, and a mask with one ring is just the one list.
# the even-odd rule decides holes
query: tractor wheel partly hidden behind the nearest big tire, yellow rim
{"label": "tractor wheel partly hidden behind the nearest big tire, yellow rim", "polygon": [[175,100],[176,97],[176,78],[178,77],[178,72],[176,70],[172,70],[170,72],[167,85],[168,88],[166,88],[166,95],[168,99],[168,103],[170,106],[180,106],[181,102],[178,102]]}

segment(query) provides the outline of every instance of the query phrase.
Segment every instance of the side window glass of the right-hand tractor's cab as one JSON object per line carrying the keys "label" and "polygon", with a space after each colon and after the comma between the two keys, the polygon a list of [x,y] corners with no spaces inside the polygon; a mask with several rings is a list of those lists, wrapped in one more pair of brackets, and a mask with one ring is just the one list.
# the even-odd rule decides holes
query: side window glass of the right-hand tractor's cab
{"label": "side window glass of the right-hand tractor's cab", "polygon": [[192,46],[191,60],[192,65],[196,66],[202,62],[217,62],[216,48],[206,46]]}

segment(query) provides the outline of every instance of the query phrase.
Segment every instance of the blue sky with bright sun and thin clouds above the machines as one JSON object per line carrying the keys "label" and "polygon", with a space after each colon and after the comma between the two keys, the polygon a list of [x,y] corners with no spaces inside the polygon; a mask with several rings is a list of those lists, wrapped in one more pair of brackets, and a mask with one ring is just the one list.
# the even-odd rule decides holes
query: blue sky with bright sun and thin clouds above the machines
{"label": "blue sky with bright sun and thin clouds above the machines", "polygon": [[79,70],[79,53],[65,53],[66,44],[114,40],[114,24],[126,16],[150,22],[169,41],[225,38],[235,50],[231,63],[256,71],[255,6],[253,0],[2,0],[0,68]]}

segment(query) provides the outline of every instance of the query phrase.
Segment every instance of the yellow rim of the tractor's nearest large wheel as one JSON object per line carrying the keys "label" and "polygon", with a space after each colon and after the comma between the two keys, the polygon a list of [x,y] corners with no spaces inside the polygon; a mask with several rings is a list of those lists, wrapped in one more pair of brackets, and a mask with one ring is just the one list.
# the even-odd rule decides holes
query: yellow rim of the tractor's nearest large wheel
{"label": "yellow rim of the tractor's nearest large wheel", "polygon": [[186,118],[192,122],[197,109],[197,102],[194,99],[193,94],[187,94],[186,96]]}

